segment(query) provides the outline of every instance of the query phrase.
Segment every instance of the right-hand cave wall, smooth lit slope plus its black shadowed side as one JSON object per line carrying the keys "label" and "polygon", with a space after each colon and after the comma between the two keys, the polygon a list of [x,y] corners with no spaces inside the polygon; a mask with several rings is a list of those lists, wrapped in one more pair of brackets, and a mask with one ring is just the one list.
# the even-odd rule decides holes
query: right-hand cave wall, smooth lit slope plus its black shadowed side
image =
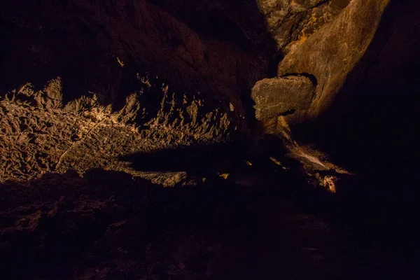
{"label": "right-hand cave wall, smooth lit slope plus its black shadowed side", "polygon": [[419,5],[353,0],[288,52],[278,76],[306,73],[316,80],[310,106],[286,116],[298,139],[316,143],[367,176],[387,170],[416,180],[412,165],[400,162],[410,162],[418,151],[413,141],[418,125],[412,120],[419,111],[414,74],[420,66],[420,22],[414,12]]}

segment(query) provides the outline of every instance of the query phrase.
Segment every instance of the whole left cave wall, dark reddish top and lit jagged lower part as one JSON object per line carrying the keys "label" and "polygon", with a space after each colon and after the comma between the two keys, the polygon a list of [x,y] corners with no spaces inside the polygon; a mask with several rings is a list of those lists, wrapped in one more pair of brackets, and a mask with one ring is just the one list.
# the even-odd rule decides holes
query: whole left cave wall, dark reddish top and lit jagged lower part
{"label": "whole left cave wall, dark reddish top and lit jagged lower part", "polygon": [[246,100],[264,63],[153,3],[3,1],[0,10],[1,181],[125,169],[115,164],[123,155],[248,130]]}

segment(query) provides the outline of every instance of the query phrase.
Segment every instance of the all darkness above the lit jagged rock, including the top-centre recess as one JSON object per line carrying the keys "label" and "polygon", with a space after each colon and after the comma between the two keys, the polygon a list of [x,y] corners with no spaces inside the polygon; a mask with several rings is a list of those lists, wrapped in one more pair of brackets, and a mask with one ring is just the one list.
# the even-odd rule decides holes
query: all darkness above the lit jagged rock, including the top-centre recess
{"label": "all darkness above the lit jagged rock, including the top-centre recess", "polygon": [[[266,30],[265,18],[255,1],[235,0],[219,8],[210,2],[189,0],[183,4],[149,2],[157,6],[139,1],[136,5],[126,3],[125,10],[120,11],[117,3],[92,6],[88,1],[3,1],[0,3],[3,38],[0,94],[27,82],[40,90],[48,80],[59,76],[64,104],[95,92],[102,94],[99,100],[102,104],[113,104],[115,109],[120,109],[128,94],[144,87],[138,83],[136,74],[148,71],[153,77],[159,76],[159,85],[169,84],[179,96],[200,91],[207,104],[214,98],[223,101],[226,111],[229,109],[226,100],[243,99],[246,110],[241,114],[250,116],[252,122],[251,87],[267,76],[267,63],[276,52],[276,44]],[[174,8],[173,3],[178,8]],[[144,10],[144,14],[135,15],[136,7]],[[113,24],[105,23],[109,20]],[[137,24],[136,20],[144,24]],[[153,20],[157,21],[155,25]],[[180,22],[186,22],[188,27]],[[117,36],[123,27],[127,34]],[[190,29],[197,31],[198,40],[202,39],[197,49],[202,48],[201,43],[208,48],[204,49],[204,54],[197,50],[193,56],[202,55],[207,63],[203,64],[200,59],[193,59],[195,62],[191,63],[179,56],[178,48],[191,43],[181,39]],[[228,43],[226,54],[215,53],[221,52],[212,45],[218,42]],[[118,64],[118,55],[124,55],[120,58],[125,67]],[[237,56],[237,59],[223,64],[221,60],[225,55]],[[248,62],[253,66],[248,66]],[[232,78],[227,78],[230,76]],[[145,105],[152,108],[160,103],[160,99],[148,101],[151,104]]]}

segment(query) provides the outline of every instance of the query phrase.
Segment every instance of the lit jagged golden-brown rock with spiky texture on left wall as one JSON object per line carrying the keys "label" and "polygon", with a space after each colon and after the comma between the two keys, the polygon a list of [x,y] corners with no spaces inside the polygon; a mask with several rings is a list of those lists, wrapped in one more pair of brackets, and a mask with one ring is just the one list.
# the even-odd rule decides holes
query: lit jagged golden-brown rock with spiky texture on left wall
{"label": "lit jagged golden-brown rock with spiky texture on left wall", "polygon": [[[82,97],[66,106],[61,80],[51,80],[36,92],[27,84],[0,100],[0,181],[26,180],[47,172],[75,169],[125,170],[119,157],[228,141],[235,125],[219,109],[203,110],[202,100],[176,97],[168,87],[152,85],[127,97],[120,111],[101,106],[97,96]],[[160,108],[153,111],[151,95],[160,91]],[[199,98],[199,96],[197,96]]]}

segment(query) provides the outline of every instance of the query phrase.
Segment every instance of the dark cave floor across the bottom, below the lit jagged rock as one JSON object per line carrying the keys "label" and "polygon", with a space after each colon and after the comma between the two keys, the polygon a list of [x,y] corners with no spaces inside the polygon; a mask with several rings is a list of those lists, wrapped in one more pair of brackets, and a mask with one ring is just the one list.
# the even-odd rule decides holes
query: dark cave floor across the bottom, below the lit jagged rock
{"label": "dark cave floor across the bottom, below the lit jagged rock", "polygon": [[5,183],[4,279],[417,279],[406,240],[380,250],[336,197],[244,166],[174,188],[102,169]]}

